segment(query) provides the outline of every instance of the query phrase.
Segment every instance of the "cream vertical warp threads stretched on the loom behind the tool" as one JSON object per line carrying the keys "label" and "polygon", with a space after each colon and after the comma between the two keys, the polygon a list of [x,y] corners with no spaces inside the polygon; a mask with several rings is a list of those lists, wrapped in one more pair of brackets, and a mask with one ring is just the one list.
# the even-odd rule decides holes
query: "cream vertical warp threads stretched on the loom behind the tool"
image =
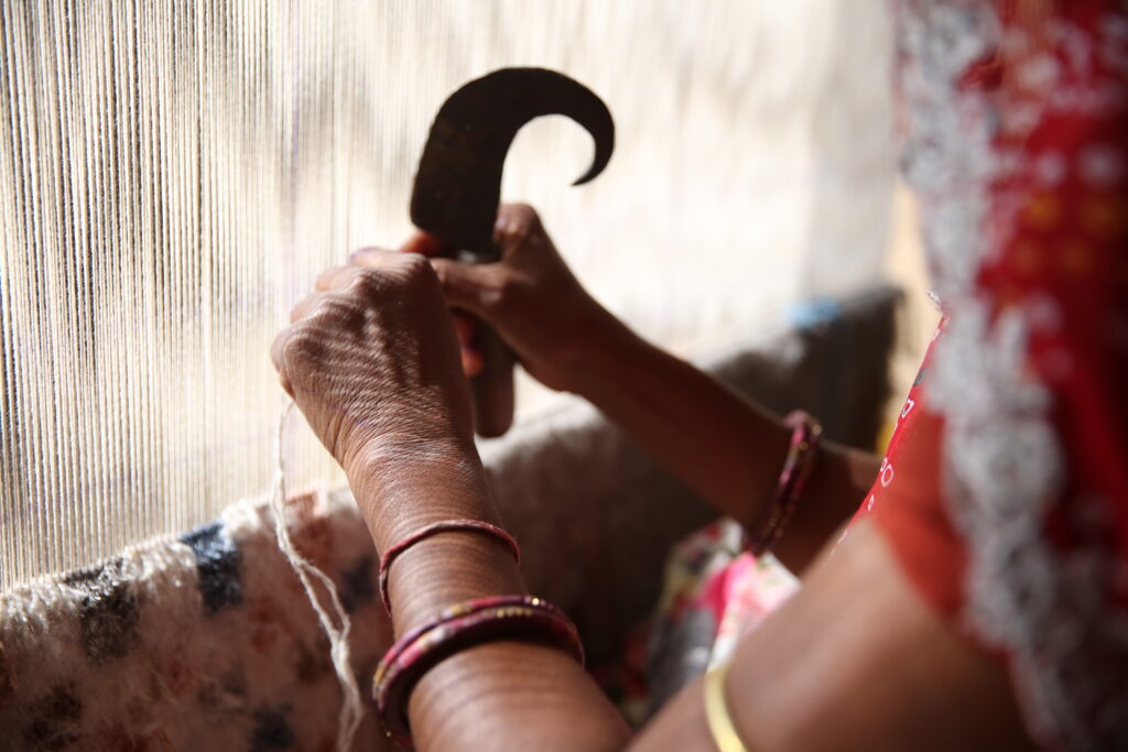
{"label": "cream vertical warp threads stretched on the loom behind the tool", "polygon": [[[271,339],[324,268],[406,239],[465,81],[545,65],[607,101],[598,180],[569,187],[590,140],[544,118],[502,195],[702,354],[875,275],[890,52],[882,3],[846,0],[0,3],[0,589],[267,490]],[[287,449],[293,486],[343,480],[300,422]]]}

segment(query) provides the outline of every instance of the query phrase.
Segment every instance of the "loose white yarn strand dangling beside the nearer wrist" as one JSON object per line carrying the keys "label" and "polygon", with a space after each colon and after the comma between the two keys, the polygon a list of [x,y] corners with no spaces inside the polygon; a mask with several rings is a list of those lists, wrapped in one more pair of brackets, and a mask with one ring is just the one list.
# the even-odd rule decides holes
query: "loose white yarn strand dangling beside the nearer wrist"
{"label": "loose white yarn strand dangling beside the nearer wrist", "polygon": [[[277,466],[275,468],[274,488],[271,493],[271,510],[274,512],[274,534],[277,538],[279,548],[282,555],[290,561],[290,566],[298,573],[301,586],[306,590],[310,605],[317,612],[317,619],[321,622],[321,628],[329,638],[329,657],[333,667],[337,672],[337,680],[341,682],[342,704],[341,713],[337,715],[337,750],[351,750],[356,728],[360,726],[360,718],[364,713],[361,704],[360,688],[356,685],[356,678],[353,675],[352,665],[349,660],[349,630],[352,621],[341,604],[337,595],[337,587],[333,581],[317,565],[303,557],[293,547],[290,540],[290,531],[285,525],[285,450],[283,445],[283,434],[285,422],[293,408],[293,400],[287,399],[279,416],[279,428],[275,436],[275,457]],[[336,614],[340,627],[331,618],[321,605],[321,601],[314,590],[312,577],[316,577],[329,594],[333,603],[333,611]]]}

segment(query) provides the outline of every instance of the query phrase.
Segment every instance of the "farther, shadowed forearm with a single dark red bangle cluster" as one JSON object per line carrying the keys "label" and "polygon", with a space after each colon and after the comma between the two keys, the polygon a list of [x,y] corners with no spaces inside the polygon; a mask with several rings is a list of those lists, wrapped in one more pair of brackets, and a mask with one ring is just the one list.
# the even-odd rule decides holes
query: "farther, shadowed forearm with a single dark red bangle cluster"
{"label": "farther, shadowed forearm with a single dark red bangle cluster", "polygon": [[[751,524],[779,478],[790,430],[699,369],[608,320],[592,338],[575,391],[655,459],[742,524]],[[876,458],[823,442],[777,555],[807,566],[857,508]]]}

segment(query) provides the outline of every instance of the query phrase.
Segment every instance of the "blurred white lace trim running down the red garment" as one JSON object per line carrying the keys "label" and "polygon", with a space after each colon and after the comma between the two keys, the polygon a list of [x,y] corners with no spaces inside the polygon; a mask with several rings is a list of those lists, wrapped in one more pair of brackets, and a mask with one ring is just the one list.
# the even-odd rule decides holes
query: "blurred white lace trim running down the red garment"
{"label": "blurred white lace trim running down the red garment", "polygon": [[[1121,707],[1128,676],[1120,674],[1128,625],[1103,604],[1112,561],[1096,548],[1059,556],[1043,537],[1065,467],[1049,418],[1051,393],[1028,368],[1026,338],[1037,321],[1028,320],[1029,307],[993,319],[975,292],[980,266],[1005,244],[1024,198],[1002,195],[992,204],[993,180],[1023,168],[1014,154],[993,149],[998,129],[1029,127],[1046,108],[1098,112],[1110,98],[1099,87],[1060,86],[1056,59],[1028,56],[1013,73],[1052,96],[1008,103],[1004,123],[987,95],[960,91],[957,82],[972,62],[1025,44],[1021,30],[1004,33],[990,2],[968,0],[905,0],[899,21],[911,121],[902,168],[920,196],[933,281],[949,315],[925,389],[945,418],[944,496],[968,549],[963,618],[1011,656],[1040,741],[1128,749]],[[1067,24],[1049,32],[1077,71],[1094,54],[1128,70],[1121,19],[1104,24],[1096,51]],[[1052,178],[1054,165],[1040,168]]]}

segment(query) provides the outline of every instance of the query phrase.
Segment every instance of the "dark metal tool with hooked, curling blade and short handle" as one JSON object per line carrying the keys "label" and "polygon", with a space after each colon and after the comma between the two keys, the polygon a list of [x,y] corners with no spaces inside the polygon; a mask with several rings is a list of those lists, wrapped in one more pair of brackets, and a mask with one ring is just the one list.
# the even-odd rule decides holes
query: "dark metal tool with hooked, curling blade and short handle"
{"label": "dark metal tool with hooked, curling blade and short handle", "polygon": [[[594,178],[615,148],[607,105],[583,85],[544,68],[503,68],[475,79],[443,103],[431,125],[412,192],[412,222],[469,263],[501,258],[493,228],[505,154],[517,132],[541,115],[566,115],[591,134],[594,158],[573,185]],[[483,372],[475,377],[475,430],[503,434],[513,421],[513,354],[483,327]]]}

